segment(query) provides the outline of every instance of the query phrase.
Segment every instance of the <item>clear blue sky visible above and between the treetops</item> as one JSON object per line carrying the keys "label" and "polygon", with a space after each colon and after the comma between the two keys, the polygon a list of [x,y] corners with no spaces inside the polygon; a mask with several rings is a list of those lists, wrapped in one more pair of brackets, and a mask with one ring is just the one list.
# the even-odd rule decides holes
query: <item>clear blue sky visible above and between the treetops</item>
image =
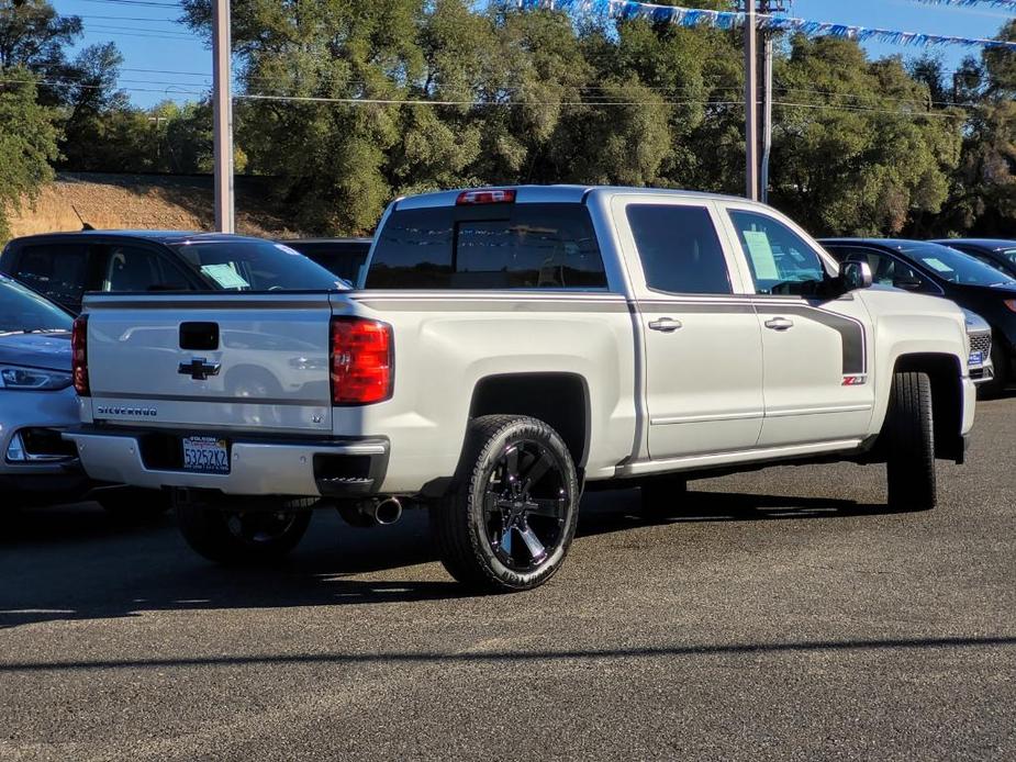
{"label": "clear blue sky visible above and between the treetops", "polygon": [[[170,98],[194,100],[211,86],[211,52],[186,27],[174,23],[180,9],[171,0],[53,0],[60,13],[85,22],[85,43],[113,41],[123,54],[120,85],[133,102],[148,107]],[[812,21],[881,26],[965,37],[990,37],[1012,14],[983,7],[930,5],[916,0],[792,0],[790,14]],[[919,48],[870,43],[874,57],[919,54]],[[976,48],[937,48],[947,69],[954,69]]]}

